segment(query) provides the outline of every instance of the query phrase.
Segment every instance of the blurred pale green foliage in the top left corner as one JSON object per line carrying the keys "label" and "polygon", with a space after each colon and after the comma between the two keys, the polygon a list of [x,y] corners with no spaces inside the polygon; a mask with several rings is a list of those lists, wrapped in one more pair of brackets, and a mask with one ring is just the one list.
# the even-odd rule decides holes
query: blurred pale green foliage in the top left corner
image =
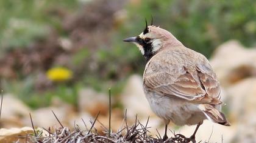
{"label": "blurred pale green foliage in the top left corner", "polygon": [[[0,52],[23,48],[44,38],[49,28],[58,28],[60,18],[52,15],[53,7],[73,8],[76,1],[5,1],[0,0]],[[68,9],[66,9],[68,10]]]}

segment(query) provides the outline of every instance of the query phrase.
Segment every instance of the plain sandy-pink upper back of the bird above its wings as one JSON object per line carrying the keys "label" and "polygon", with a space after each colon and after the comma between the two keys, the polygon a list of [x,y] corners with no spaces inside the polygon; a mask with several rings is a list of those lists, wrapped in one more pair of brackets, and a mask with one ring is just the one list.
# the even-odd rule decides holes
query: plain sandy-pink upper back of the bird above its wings
{"label": "plain sandy-pink upper back of the bird above its wings", "polygon": [[207,58],[201,53],[183,46],[165,48],[149,60],[145,67],[145,74],[155,72],[179,73],[183,67],[193,72],[197,65],[205,70],[213,71]]}

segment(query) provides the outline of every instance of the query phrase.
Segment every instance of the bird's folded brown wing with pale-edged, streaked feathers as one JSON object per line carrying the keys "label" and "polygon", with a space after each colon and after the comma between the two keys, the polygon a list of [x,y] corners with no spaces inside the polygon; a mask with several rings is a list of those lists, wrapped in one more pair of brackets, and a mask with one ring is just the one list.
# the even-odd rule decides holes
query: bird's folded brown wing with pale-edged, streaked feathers
{"label": "bird's folded brown wing with pale-edged, streaked feathers", "polygon": [[[187,99],[191,102],[221,104],[220,87],[218,79],[208,62],[195,65],[194,71],[188,71],[187,67],[176,64],[169,65],[172,70],[144,73],[144,86],[148,90],[162,93],[169,98]],[[149,68],[154,68],[150,65]],[[163,64],[163,63],[162,63]],[[164,63],[166,64],[166,63]]]}

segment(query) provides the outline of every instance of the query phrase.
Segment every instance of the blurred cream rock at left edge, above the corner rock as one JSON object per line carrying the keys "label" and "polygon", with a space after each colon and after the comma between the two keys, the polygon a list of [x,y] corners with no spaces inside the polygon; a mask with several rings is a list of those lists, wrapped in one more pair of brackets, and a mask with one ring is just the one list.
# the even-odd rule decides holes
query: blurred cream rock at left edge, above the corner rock
{"label": "blurred cream rock at left edge, above the corner rock", "polygon": [[30,108],[20,99],[11,94],[5,94],[2,102],[0,127],[22,127],[24,124],[21,121],[29,116],[30,112]]}

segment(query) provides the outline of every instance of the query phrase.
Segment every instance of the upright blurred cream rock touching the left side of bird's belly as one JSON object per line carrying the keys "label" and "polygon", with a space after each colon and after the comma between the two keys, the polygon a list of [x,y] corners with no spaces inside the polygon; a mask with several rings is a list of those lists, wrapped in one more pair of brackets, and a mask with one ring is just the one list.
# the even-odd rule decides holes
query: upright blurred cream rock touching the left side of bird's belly
{"label": "upright blurred cream rock touching the left side of bird's belly", "polygon": [[148,101],[144,95],[142,87],[142,78],[138,75],[132,75],[121,93],[121,102],[124,109],[127,109],[127,118],[135,119],[136,114],[138,119],[155,116],[149,107]]}

